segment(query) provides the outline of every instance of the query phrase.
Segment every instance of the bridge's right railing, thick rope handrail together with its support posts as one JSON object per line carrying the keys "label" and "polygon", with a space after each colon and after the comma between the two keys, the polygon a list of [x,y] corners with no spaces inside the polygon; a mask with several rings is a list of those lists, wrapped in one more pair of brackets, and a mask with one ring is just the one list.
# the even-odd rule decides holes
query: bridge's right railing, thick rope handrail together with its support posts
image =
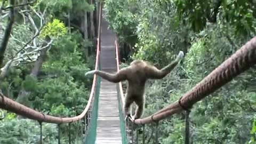
{"label": "bridge's right railing, thick rope handrail together with its support posts", "polygon": [[[116,37],[116,58],[117,58],[117,67],[119,70],[119,57],[118,57],[118,38]],[[135,119],[131,122],[133,124],[142,125],[142,143],[145,143],[145,126],[146,124],[154,124],[152,127],[152,133],[155,133],[155,142],[158,143],[158,123],[159,121],[172,116],[173,114],[180,113],[185,111],[185,143],[188,144],[190,139],[190,130],[189,130],[189,113],[193,105],[205,98],[210,93],[218,90],[221,86],[230,82],[237,75],[243,73],[245,70],[256,64],[256,36],[253,37],[249,42],[237,50],[230,58],[224,61],[219,67],[214,69],[209,75],[207,75],[201,82],[199,82],[193,89],[188,91],[179,100],[171,103],[169,106],[157,111],[155,114],[148,116],[146,118]],[[118,93],[121,96],[121,105],[124,105],[124,94],[122,91],[122,84],[118,84]],[[124,117],[124,116],[123,116]],[[130,143],[138,143],[138,128],[134,132],[134,127],[128,127],[126,124],[126,131],[132,129],[132,132],[126,134],[126,137]],[[134,140],[134,135],[137,135]],[[152,135],[149,136],[151,139]]]}

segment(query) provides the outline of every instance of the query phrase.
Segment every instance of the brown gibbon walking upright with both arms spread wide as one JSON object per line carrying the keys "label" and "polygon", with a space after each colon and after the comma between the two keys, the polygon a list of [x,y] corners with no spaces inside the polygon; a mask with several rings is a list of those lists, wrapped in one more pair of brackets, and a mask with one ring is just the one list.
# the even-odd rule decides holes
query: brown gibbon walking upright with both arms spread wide
{"label": "brown gibbon walking upright with both arms spread wide", "polygon": [[[106,73],[101,70],[91,70],[85,75],[96,74],[109,82],[118,83],[121,81],[128,81],[128,86],[125,95],[124,114],[131,118],[129,113],[130,106],[133,102],[137,105],[137,109],[134,114],[134,119],[140,118],[145,106],[145,85],[147,79],[162,79],[169,74],[179,61],[183,58],[183,52],[180,51],[177,59],[162,68],[161,70],[149,65],[143,60],[134,60],[130,63],[130,66],[120,69],[116,74]],[[132,119],[133,119],[132,118]]]}

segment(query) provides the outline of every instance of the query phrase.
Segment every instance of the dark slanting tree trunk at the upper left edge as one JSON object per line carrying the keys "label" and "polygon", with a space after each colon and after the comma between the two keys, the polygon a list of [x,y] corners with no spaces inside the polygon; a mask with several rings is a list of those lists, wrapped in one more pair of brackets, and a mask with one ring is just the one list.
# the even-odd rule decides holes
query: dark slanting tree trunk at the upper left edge
{"label": "dark slanting tree trunk at the upper left edge", "polygon": [[[14,0],[10,0],[10,4],[14,5]],[[9,19],[7,22],[7,26],[4,31],[3,41],[2,41],[1,47],[0,47],[0,67],[3,65],[4,53],[6,51],[6,47],[7,47],[9,38],[10,38],[13,23],[14,23],[14,8],[11,7],[10,12],[9,12]]]}

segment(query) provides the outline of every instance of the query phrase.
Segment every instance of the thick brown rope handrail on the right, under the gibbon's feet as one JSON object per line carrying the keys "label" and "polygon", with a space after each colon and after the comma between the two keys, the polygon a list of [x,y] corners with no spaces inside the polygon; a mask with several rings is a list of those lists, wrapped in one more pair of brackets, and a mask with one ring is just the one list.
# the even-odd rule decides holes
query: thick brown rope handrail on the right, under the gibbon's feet
{"label": "thick brown rope handrail on the right, under the gibbon's feet", "polygon": [[[116,42],[116,46],[117,42]],[[118,49],[118,48],[116,48]],[[117,53],[118,54],[118,53]],[[118,58],[118,55],[116,56]],[[117,63],[119,59],[117,60]],[[119,63],[118,63],[119,64]],[[179,100],[171,103],[169,106],[157,111],[155,114],[135,119],[135,124],[149,124],[159,122],[173,114],[180,113],[182,110],[190,109],[196,102],[202,100],[210,93],[218,90],[237,75],[243,73],[256,64],[256,36],[250,39],[241,49],[237,50],[230,58],[222,62],[201,82],[196,84],[193,89],[184,94]],[[119,66],[119,65],[118,65]],[[117,66],[117,67],[118,67]],[[119,67],[118,67],[119,70]],[[120,83],[121,84],[121,83]],[[122,89],[122,85],[121,85]],[[124,94],[121,93],[124,104]]]}

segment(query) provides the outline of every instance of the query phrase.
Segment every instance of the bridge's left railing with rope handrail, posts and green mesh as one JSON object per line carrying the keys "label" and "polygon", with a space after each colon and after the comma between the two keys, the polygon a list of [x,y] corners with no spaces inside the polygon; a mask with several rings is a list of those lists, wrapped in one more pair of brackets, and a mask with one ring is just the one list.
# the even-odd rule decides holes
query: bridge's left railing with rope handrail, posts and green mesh
{"label": "bridge's left railing with rope handrail, posts and green mesh", "polygon": [[[100,30],[101,27],[101,9],[102,3],[99,2],[99,22],[98,27]],[[99,60],[99,53],[100,53],[100,33],[98,34],[97,38],[97,53],[96,53],[96,61],[95,61],[95,69],[100,68],[100,60]],[[39,122],[40,125],[40,140],[39,143],[43,143],[43,123],[55,123],[58,124],[58,143],[60,143],[61,138],[61,129],[60,126],[62,124],[68,124],[68,141],[71,143],[71,124],[74,122],[80,123],[82,129],[80,127],[79,130],[76,131],[76,134],[83,135],[84,134],[84,142],[85,143],[94,143],[96,137],[96,130],[97,130],[97,117],[98,117],[98,101],[99,101],[99,90],[100,90],[100,77],[94,75],[93,77],[93,84],[91,88],[91,93],[89,100],[87,102],[86,107],[84,108],[83,112],[75,117],[55,117],[51,115],[43,114],[39,111],[21,105],[18,102],[13,101],[10,98],[5,97],[2,93],[0,93],[0,108],[5,109],[7,111],[11,111],[15,114],[24,116],[29,119],[34,119],[35,121]]]}

